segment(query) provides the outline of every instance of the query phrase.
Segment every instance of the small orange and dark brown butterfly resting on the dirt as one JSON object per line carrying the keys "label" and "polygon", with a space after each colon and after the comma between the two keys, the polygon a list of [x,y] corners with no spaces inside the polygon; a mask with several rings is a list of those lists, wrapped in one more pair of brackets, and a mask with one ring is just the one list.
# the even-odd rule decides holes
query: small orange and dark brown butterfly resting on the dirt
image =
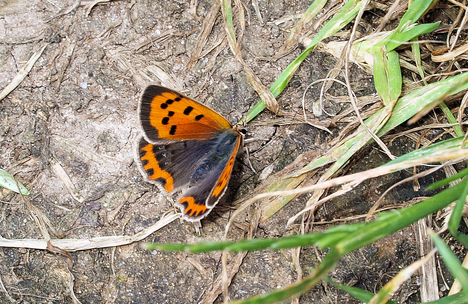
{"label": "small orange and dark brown butterfly resting on the dirt", "polygon": [[226,193],[245,130],[167,87],[146,87],[139,106],[141,170],[167,195],[182,190],[176,205],[183,218],[199,221]]}

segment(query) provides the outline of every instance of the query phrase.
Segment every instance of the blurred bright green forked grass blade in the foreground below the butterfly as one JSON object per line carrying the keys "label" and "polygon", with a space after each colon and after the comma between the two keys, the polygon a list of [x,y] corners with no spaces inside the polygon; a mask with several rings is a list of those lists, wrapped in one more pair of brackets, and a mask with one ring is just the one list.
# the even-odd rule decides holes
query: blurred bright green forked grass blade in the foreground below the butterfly
{"label": "blurred bright green forked grass blade in the foreground below the butterfly", "polygon": [[266,239],[263,241],[254,239],[242,240],[240,242],[201,242],[195,245],[153,244],[146,245],[146,247],[156,250],[184,249],[189,252],[207,252],[213,249],[233,252],[260,250],[263,248],[278,249],[285,248],[284,246],[304,246],[305,242],[314,243],[314,245],[322,249],[329,247],[329,254],[327,254],[322,262],[312,271],[312,274],[305,277],[302,281],[294,283],[282,290],[275,290],[261,296],[233,302],[236,304],[278,303],[290,297],[302,295],[313,288],[315,284],[320,282],[320,280],[333,269],[344,254],[367,246],[375,240],[384,238],[452,203],[460,197],[460,193],[465,186],[465,184],[457,184],[423,202],[416,203],[401,210],[380,213],[379,217],[373,222],[336,226],[324,233],[307,233],[304,235],[290,236],[284,243],[281,243],[281,239]]}

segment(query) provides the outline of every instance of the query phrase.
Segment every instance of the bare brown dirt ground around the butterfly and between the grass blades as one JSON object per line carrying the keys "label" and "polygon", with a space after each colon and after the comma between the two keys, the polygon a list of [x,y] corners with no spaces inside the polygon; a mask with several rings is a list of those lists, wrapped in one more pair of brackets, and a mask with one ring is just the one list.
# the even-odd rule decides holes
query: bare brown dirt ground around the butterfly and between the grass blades
{"label": "bare brown dirt ground around the butterfly and between the grass blades", "polygon": [[[135,139],[142,132],[137,104],[146,83],[168,76],[166,81],[173,82],[166,85],[209,104],[232,123],[259,101],[242,66],[224,43],[220,14],[204,48],[206,53],[202,51],[202,58],[186,67],[213,0],[192,1],[198,2],[195,12],[190,10],[189,0],[114,0],[91,6],[92,2],[0,0],[0,88],[46,45],[26,79],[0,101],[0,165],[30,190],[31,204],[57,231],[54,235],[49,229],[52,239],[132,236],[172,210],[171,200],[143,179],[134,162]],[[242,51],[268,87],[300,53],[296,49],[279,59],[264,59],[275,54],[294,26],[291,20],[274,21],[303,12],[310,3],[259,1],[266,24],[258,20],[250,1],[244,3],[248,15]],[[312,52],[278,98],[280,108],[301,111],[305,88],[325,77],[335,62],[329,55]],[[352,86],[358,94],[372,94],[372,79],[356,68],[353,73]],[[310,102],[317,96],[316,90],[309,89],[306,109],[312,109]],[[328,105],[335,113],[347,106]],[[332,128],[335,134],[330,135],[307,124],[276,126],[276,118],[265,110],[247,126],[246,138],[250,141],[246,146],[256,173],[245,154],[238,158],[226,203],[202,221],[201,236],[192,224],[176,220],[146,240],[221,240],[235,199],[248,194],[302,151],[316,145],[327,148],[327,138],[338,131]],[[404,145],[412,143],[396,144]],[[376,149],[368,149],[363,155],[353,164],[353,172],[386,161]],[[64,174],[71,183],[67,184]],[[364,183],[343,200],[327,203],[316,219],[366,213],[380,192],[405,174]],[[390,193],[387,203],[415,196],[411,185],[403,187]],[[43,239],[21,197],[7,190],[0,195],[0,235],[7,239]],[[285,223],[301,209],[304,200],[305,196],[299,197],[261,222],[256,237],[295,232],[294,227],[285,228]],[[237,221],[240,224],[231,229],[230,239],[243,236],[244,221]],[[132,243],[70,254],[73,290],[83,304],[199,303],[213,289],[221,272],[218,252],[166,253],[147,251]],[[323,254],[313,247],[304,248],[300,262],[305,274]],[[337,281],[374,291],[416,259],[414,235],[406,229],[347,256],[331,275]],[[11,297],[24,295],[21,303],[73,303],[66,261],[63,255],[46,250],[3,247],[1,279]],[[296,277],[290,250],[250,252],[234,276],[229,296],[254,296],[285,287]],[[413,277],[394,299],[417,302],[417,289],[417,277]],[[221,303],[222,295],[216,301]],[[3,293],[0,303],[10,303]],[[300,303],[358,301],[323,283],[301,297]]]}

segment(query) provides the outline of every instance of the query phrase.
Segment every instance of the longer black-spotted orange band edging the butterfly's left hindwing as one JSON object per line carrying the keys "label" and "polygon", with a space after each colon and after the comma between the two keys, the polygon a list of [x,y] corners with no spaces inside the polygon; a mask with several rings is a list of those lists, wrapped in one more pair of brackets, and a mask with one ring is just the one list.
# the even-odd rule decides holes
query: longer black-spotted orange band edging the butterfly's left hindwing
{"label": "longer black-spotted orange band edging the butterfly's left hindwing", "polygon": [[[166,192],[170,193],[174,190],[174,179],[171,174],[162,170],[159,166],[159,162],[153,152],[153,146],[153,144],[148,143],[140,147],[141,164],[148,174],[148,178],[160,182]],[[144,152],[144,154],[141,152]]]}

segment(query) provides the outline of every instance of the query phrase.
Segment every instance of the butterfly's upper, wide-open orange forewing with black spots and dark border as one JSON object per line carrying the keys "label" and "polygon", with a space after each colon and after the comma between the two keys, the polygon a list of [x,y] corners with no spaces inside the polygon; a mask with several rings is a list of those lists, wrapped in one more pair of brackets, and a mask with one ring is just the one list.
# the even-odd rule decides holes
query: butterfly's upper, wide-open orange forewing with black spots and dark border
{"label": "butterfly's upper, wide-open orange forewing with black spots and dark border", "polygon": [[209,138],[231,124],[204,104],[166,87],[148,86],[142,95],[140,118],[150,140]]}

